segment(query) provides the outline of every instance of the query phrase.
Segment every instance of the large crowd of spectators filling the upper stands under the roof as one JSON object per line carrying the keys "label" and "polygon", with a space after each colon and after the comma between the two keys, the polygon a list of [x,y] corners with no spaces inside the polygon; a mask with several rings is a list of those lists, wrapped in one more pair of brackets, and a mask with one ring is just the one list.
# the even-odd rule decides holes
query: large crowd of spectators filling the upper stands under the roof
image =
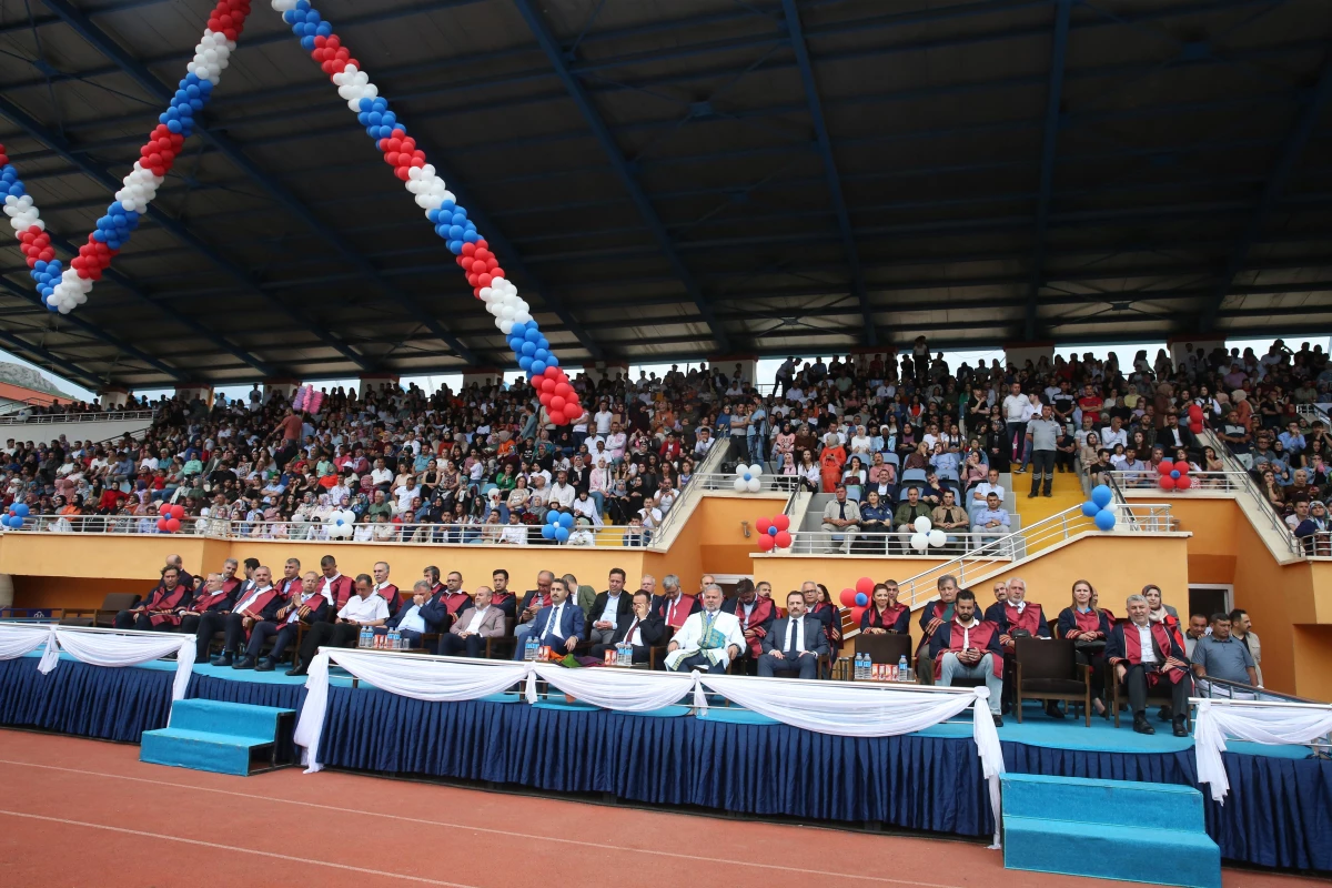
{"label": "large crowd of spectators filling the upper stands under the roof", "polygon": [[1199,349],[1179,366],[1164,350],[1128,366],[1114,353],[1022,367],[951,367],[930,355],[920,338],[900,358],[789,358],[771,390],[745,382],[738,365],[579,377],[589,413],[569,426],[545,422],[522,382],[433,394],[336,387],[318,415],[257,386],[213,405],[177,398],[156,405],[143,441],[8,441],[3,505],[65,518],[53,530],[113,515],[112,530],[151,533],[166,501],[184,509],[186,531],[294,539],[329,539],[330,518],[350,510],[362,542],[514,545],[539,542],[530,531],[558,509],[577,521],[570,545],[590,545],[607,525],[642,545],[725,441],[731,462],[844,490],[825,530],[844,551],[872,551],[875,535],[908,535],[919,517],[1008,533],[999,481],[1008,471],[1032,470],[1031,497],[1050,495],[1054,474],[1078,466],[1092,481],[1124,473],[1130,486],[1155,485],[1162,459],[1217,471],[1221,459],[1188,427],[1197,405],[1296,529],[1325,526],[1327,509],[1313,503],[1328,494],[1327,429],[1299,410],[1332,398],[1321,347]]}

